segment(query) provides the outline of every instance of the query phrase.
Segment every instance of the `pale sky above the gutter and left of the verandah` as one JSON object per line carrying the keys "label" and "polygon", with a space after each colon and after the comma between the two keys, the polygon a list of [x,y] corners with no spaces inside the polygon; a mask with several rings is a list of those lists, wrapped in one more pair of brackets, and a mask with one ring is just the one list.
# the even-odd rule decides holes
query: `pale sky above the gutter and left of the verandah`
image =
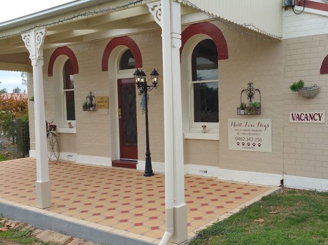
{"label": "pale sky above the gutter and left of the verandah", "polygon": [[[69,0],[10,0],[1,1],[1,14],[0,23],[22,17],[28,14],[32,14],[41,10],[49,9],[61,4],[69,3],[73,1]],[[7,88],[9,93],[12,92],[13,88],[18,86],[24,90],[27,90],[26,86],[22,85],[22,78],[20,78],[20,72],[9,72],[0,71],[0,90],[2,88]]]}

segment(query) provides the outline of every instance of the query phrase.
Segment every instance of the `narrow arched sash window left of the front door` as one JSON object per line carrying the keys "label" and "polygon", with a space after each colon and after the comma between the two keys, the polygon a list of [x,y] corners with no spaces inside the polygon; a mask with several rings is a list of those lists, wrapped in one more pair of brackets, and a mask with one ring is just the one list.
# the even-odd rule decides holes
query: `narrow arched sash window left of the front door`
{"label": "narrow arched sash window left of the front door", "polygon": [[65,119],[67,122],[75,124],[75,103],[74,103],[74,75],[73,65],[68,59],[63,68],[63,92],[64,92],[64,107],[66,107]]}

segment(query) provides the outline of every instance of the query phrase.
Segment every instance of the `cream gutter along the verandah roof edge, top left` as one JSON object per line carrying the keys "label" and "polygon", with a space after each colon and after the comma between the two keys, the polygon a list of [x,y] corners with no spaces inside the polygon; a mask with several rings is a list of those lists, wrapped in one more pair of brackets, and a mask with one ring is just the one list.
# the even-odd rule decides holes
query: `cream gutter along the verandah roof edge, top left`
{"label": "cream gutter along the verandah roof edge, top left", "polygon": [[113,0],[77,0],[71,3],[59,5],[50,9],[42,10],[33,14],[18,17],[0,23],[0,31],[33,23],[34,21],[42,20],[45,18],[53,17],[60,14],[66,14],[75,10],[87,8],[94,5],[112,2]]}

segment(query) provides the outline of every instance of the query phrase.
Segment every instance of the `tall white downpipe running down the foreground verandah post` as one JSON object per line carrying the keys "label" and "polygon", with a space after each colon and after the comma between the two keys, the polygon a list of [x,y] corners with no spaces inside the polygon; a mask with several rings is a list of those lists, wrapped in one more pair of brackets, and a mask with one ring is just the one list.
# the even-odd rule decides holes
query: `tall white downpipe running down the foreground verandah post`
{"label": "tall white downpipe running down the foreground verandah post", "polygon": [[164,97],[164,139],[165,139],[165,206],[166,232],[159,245],[167,245],[174,232],[174,179],[173,179],[173,90],[171,67],[171,16],[170,1],[161,0],[162,7],[162,55],[163,55],[163,97]]}

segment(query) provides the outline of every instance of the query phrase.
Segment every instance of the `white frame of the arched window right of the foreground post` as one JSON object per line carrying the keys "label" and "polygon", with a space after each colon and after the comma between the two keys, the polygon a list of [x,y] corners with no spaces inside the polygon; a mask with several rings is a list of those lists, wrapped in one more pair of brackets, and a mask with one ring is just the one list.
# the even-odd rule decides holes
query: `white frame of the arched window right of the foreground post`
{"label": "white frame of the arched window right of the foreground post", "polygon": [[[195,122],[195,114],[194,114],[194,84],[195,83],[209,83],[209,82],[217,82],[218,83],[218,93],[219,93],[219,68],[218,68],[218,79],[217,80],[200,80],[200,81],[193,81],[192,80],[192,54],[194,49],[196,48],[196,46],[203,40],[205,39],[211,39],[209,37],[204,37],[200,40],[197,40],[193,43],[193,46],[191,47],[190,53],[189,53],[189,57],[188,57],[188,66],[189,66],[189,72],[188,72],[188,76],[189,76],[189,130],[191,132],[201,132],[201,128],[202,125],[206,125],[207,126],[207,132],[208,133],[215,133],[218,134],[219,133],[219,125],[220,125],[220,121],[217,123],[213,123],[213,122]],[[213,41],[213,39],[211,39]],[[219,106],[219,101],[218,101],[218,106]],[[220,110],[219,110],[220,112]]]}

